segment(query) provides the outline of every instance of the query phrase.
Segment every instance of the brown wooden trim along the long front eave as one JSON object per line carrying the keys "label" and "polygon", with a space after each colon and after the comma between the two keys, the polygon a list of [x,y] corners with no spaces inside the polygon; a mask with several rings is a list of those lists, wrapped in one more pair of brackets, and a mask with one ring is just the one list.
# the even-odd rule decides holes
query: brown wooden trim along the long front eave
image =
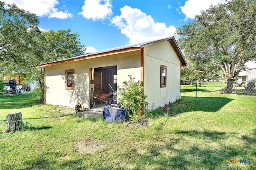
{"label": "brown wooden trim along the long front eave", "polygon": [[128,53],[128,52],[132,52],[132,51],[138,51],[140,49],[141,49],[140,47],[132,47],[132,48],[129,48],[129,49],[108,51],[108,52],[104,52],[104,53],[99,53],[99,54],[94,54],[94,55],[87,55],[87,56],[67,59],[67,60],[63,60],[63,61],[54,61],[52,63],[40,64],[40,65],[34,66],[34,67],[38,68],[38,67],[52,66],[52,65],[57,65],[57,64],[72,63],[72,62],[75,62],[75,61],[82,61],[82,60],[94,59],[94,58],[98,58],[98,57],[105,57],[105,56],[108,56],[108,55],[115,55],[115,54],[120,54],[120,53]]}

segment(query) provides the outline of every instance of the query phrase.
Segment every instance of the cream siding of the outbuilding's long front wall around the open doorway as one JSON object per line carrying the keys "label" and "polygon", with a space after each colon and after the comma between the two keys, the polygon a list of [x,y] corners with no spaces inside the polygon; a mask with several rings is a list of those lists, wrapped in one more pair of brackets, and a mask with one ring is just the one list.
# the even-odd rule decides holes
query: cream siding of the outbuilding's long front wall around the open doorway
{"label": "cream siding of the outbuilding's long front wall around the open doorway", "polygon": [[[140,50],[58,64],[45,67],[46,104],[74,107],[77,102],[82,107],[89,108],[90,104],[90,68],[117,66],[117,88],[122,86],[128,75],[140,80]],[[66,90],[65,70],[74,69],[74,90]]]}

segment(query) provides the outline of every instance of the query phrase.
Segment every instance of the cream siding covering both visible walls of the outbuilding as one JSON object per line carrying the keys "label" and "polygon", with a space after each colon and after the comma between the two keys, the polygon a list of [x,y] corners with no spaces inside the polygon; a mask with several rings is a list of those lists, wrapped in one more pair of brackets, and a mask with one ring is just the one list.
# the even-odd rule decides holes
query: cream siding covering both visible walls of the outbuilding
{"label": "cream siding covering both visible walls of the outbuilding", "polygon": [[[90,68],[117,66],[119,93],[119,88],[128,80],[128,75],[132,75],[135,81],[141,79],[140,55],[138,49],[95,59],[46,66],[46,104],[74,107],[79,102],[82,107],[89,108]],[[160,88],[160,65],[167,67],[167,84],[164,88]],[[74,90],[65,88],[65,70],[69,69],[74,69],[75,73]],[[144,47],[144,83],[149,109],[162,107],[180,98],[180,60],[168,41]]]}

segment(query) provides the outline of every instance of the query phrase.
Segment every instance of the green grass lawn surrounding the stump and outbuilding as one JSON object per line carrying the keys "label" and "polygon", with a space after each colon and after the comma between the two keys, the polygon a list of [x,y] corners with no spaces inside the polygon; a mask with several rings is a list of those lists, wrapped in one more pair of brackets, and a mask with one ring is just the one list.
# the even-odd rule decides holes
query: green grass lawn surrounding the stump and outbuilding
{"label": "green grass lawn surrounding the stump and outbuilding", "polygon": [[[169,113],[151,113],[146,126],[78,117],[38,100],[0,96],[1,170],[256,169],[255,96],[182,97]],[[16,111],[29,129],[3,133],[6,113]],[[226,166],[223,158],[251,164]]]}

